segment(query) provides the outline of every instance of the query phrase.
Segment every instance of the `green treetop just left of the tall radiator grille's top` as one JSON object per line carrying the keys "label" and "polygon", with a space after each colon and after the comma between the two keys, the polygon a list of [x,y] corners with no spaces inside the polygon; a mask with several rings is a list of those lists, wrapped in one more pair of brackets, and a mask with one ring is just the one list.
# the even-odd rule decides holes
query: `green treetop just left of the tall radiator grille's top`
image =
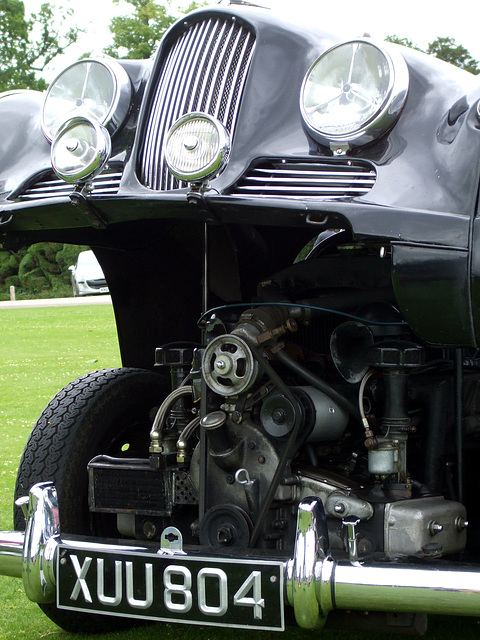
{"label": "green treetop just left of the tall radiator grille's top", "polygon": [[[113,0],[118,4],[119,0]],[[115,58],[150,58],[165,31],[177,20],[178,15],[166,6],[153,0],[127,0],[134,8],[131,16],[117,16],[110,22],[113,44],[105,49]],[[192,2],[182,13],[192,11],[199,5]]]}

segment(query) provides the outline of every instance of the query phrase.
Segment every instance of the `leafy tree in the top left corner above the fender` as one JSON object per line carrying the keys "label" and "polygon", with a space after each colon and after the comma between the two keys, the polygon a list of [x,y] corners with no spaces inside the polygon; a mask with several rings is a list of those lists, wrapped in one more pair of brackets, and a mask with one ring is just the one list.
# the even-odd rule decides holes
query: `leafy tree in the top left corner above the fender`
{"label": "leafy tree in the top left corner above the fender", "polygon": [[0,91],[46,88],[36,72],[43,71],[78,37],[77,28],[60,30],[65,13],[55,16],[51,5],[45,3],[27,19],[21,0],[0,0]]}

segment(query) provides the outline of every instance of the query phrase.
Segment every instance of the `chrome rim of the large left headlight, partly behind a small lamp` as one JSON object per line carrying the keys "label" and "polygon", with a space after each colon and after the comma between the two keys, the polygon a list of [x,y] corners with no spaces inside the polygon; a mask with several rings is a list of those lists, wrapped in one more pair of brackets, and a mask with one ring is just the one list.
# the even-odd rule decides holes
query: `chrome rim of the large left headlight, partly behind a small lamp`
{"label": "chrome rim of the large left headlight, partly behind a small lamp", "polygon": [[[49,101],[52,99],[52,92],[54,88],[57,86],[60,79],[70,73],[72,70],[76,69],[79,66],[86,67],[86,75],[89,73],[89,66],[91,65],[101,65],[108,72],[113,86],[112,98],[110,100],[110,106],[105,115],[101,118],[95,118],[98,122],[104,126],[111,135],[113,135],[118,128],[125,121],[128,111],[130,109],[130,105],[132,102],[133,89],[132,83],[128,76],[128,73],[113,58],[85,58],[83,60],[77,60],[72,64],[68,65],[55,77],[55,79],[50,83],[47,92],[45,94],[45,98],[43,100],[42,105],[42,117],[41,117],[41,125],[44,136],[47,138],[49,142],[52,142],[55,133],[62,126],[64,121],[69,120],[75,116],[84,116],[87,118],[93,119],[89,113],[88,108],[82,107],[82,105],[77,105],[77,113],[70,112],[68,115],[65,115],[64,120],[58,125],[57,128],[53,128],[52,124],[46,118],[46,111],[48,108]],[[80,99],[80,98],[79,98]]]}

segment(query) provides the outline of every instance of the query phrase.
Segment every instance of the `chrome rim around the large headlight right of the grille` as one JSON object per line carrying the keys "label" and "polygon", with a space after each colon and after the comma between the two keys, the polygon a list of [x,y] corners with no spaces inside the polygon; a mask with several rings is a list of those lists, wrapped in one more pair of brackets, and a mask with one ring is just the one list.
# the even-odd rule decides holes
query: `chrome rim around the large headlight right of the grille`
{"label": "chrome rim around the large headlight right of the grille", "polygon": [[[357,45],[357,48],[354,51],[353,57],[356,55],[360,46],[373,47],[383,56],[389,71],[388,88],[385,91],[383,100],[369,117],[348,131],[334,133],[324,128],[316,127],[312,123],[305,107],[305,91],[309,79],[313,71],[322,61],[325,61],[327,56],[336,52],[341,47],[355,45]],[[352,58],[352,64],[353,62],[354,60]],[[330,146],[332,149],[335,149],[335,145],[346,146],[347,148],[362,146],[382,136],[397,121],[405,105],[408,88],[409,71],[405,59],[399,51],[394,47],[384,46],[383,43],[374,42],[369,38],[355,38],[333,45],[313,62],[302,82],[300,90],[300,111],[307,130],[312,137],[320,143]]]}

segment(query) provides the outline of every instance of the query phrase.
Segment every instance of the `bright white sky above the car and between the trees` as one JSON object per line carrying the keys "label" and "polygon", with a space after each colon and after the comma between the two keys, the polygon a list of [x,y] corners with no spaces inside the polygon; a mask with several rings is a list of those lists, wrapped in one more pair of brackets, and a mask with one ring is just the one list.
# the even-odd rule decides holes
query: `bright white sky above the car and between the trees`
{"label": "bright white sky above the car and between the trees", "polygon": [[[24,0],[27,13],[38,10],[44,0]],[[161,0],[157,0],[161,2]],[[408,38],[422,48],[437,37],[454,38],[480,61],[480,37],[478,35],[478,0],[252,0],[258,4],[269,3],[282,13],[308,11],[310,21],[317,21],[320,28],[357,37],[369,33],[384,39],[395,34]],[[62,59],[57,59],[48,74],[51,80],[66,64],[83,53],[101,50],[109,42],[110,20],[115,15],[126,15],[131,10],[123,0],[50,0],[54,6],[70,6],[74,10],[72,23],[84,28],[86,33]],[[209,0],[215,4],[216,0]],[[189,0],[175,0],[172,5],[188,6]],[[307,14],[308,15],[308,14]],[[70,26],[70,20],[66,26]]]}

